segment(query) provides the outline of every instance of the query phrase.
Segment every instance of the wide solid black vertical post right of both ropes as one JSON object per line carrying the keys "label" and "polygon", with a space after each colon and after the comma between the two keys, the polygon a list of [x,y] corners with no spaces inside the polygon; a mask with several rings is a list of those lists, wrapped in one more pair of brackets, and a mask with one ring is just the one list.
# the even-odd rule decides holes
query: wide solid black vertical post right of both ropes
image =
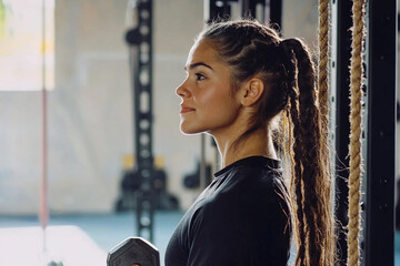
{"label": "wide solid black vertical post right of both ropes", "polygon": [[397,1],[370,0],[366,265],[393,265]]}

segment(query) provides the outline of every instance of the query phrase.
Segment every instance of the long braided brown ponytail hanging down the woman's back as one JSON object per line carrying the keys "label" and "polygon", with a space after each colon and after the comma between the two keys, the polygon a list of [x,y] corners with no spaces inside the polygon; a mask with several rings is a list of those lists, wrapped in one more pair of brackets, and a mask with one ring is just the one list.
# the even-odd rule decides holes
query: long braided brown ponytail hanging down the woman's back
{"label": "long braided brown ponytail hanging down the woman's back", "polygon": [[[298,39],[283,41],[290,61],[290,114],[293,124],[291,185],[298,235],[296,265],[333,265],[334,234],[331,211],[329,151],[321,143],[321,117],[317,104],[316,71],[307,47]],[[293,192],[293,190],[292,190]]]}

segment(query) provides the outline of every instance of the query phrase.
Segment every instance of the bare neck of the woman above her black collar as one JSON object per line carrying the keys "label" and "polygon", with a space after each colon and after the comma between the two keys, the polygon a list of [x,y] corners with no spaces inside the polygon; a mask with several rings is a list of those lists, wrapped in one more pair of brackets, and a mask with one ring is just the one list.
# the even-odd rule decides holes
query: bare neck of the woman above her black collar
{"label": "bare neck of the woman above her black collar", "polygon": [[213,136],[221,155],[222,167],[249,156],[267,156],[277,158],[272,136],[267,130],[257,130],[244,137],[238,145],[234,140]]}

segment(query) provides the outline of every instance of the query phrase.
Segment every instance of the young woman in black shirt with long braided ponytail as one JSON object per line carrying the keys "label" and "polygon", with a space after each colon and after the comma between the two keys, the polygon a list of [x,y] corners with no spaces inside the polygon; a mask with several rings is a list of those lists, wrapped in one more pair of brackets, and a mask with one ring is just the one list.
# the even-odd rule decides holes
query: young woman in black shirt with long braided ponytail
{"label": "young woman in black shirt with long braided ponytail", "polygon": [[286,265],[292,232],[296,265],[333,265],[326,132],[306,45],[257,21],[218,22],[184,69],[180,129],[212,135],[222,170],[179,223],[166,266]]}

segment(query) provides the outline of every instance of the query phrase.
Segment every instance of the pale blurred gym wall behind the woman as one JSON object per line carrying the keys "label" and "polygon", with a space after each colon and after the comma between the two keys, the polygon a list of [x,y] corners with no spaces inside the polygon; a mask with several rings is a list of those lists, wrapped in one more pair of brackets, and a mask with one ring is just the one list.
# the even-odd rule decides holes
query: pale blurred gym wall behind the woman
{"label": "pale blurred gym wall behind the woman", "polygon": [[[198,191],[182,187],[194,170],[200,137],[179,132],[174,88],[203,1],[154,0],[154,155],[166,161],[170,192],[188,207]],[[317,43],[317,0],[283,1],[283,33]],[[56,89],[49,93],[49,205],[59,212],[110,212],[122,157],[133,151],[124,43],[127,0],[56,1]],[[293,19],[296,18],[296,19]],[[41,176],[40,92],[0,92],[0,214],[38,211]],[[209,140],[207,143],[210,143]],[[213,161],[208,147],[208,157]]]}

